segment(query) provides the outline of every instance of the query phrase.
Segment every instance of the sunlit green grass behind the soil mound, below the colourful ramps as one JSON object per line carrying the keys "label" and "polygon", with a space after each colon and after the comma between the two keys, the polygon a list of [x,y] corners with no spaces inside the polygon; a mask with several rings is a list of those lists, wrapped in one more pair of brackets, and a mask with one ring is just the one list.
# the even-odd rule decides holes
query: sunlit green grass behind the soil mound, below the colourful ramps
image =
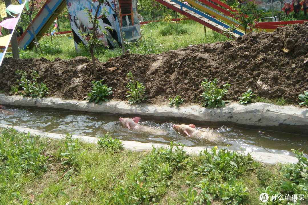
{"label": "sunlit green grass behind the soil mound, below the colourful ramps", "polygon": [[[170,30],[173,32],[169,35],[162,36],[160,31]],[[204,27],[192,20],[185,20],[176,23],[168,22],[156,22],[149,23],[148,25],[141,27],[142,40],[138,40],[137,43],[131,43],[126,46],[130,49],[130,53],[148,54],[148,53],[161,53],[169,50],[176,50],[189,45],[196,45],[200,43],[213,43],[217,41],[228,40],[227,37],[213,32],[207,28],[207,35],[204,34]],[[75,51],[74,41],[72,37],[66,35],[52,36],[53,43],[51,44],[51,37],[44,36],[41,38],[40,45],[42,53],[39,50],[30,49],[20,52],[20,58],[47,58],[48,60],[54,60],[59,57],[63,60],[68,60],[77,56],[85,56],[91,58],[89,52]],[[97,48],[95,50],[95,57],[100,61],[107,61],[110,57],[120,56],[122,51],[120,48],[109,50],[103,48]],[[11,54],[7,54],[10,56]]]}

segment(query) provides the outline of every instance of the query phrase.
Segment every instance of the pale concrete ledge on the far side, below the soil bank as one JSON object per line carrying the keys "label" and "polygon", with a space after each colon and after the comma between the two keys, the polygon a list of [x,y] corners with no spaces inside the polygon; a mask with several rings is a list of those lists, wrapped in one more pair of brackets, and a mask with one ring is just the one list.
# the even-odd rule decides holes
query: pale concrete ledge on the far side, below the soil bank
{"label": "pale concrete ledge on the far side, below the soil bank", "polygon": [[308,109],[295,106],[278,106],[267,103],[252,103],[241,105],[233,102],[225,108],[202,108],[199,105],[158,106],[152,104],[130,105],[124,101],[108,101],[101,105],[87,103],[87,101],[62,100],[60,98],[30,98],[22,96],[7,96],[0,94],[0,104],[67,109],[83,112],[100,112],[111,114],[136,114],[164,118],[182,118],[199,122],[228,122],[250,126],[263,126],[265,129],[308,134]]}

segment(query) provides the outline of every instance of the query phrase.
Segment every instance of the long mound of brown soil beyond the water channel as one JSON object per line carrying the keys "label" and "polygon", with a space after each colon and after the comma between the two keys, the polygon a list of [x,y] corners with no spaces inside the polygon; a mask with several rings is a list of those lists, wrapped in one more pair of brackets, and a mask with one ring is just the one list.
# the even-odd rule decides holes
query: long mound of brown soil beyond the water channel
{"label": "long mound of brown soil beyond the water channel", "polygon": [[[204,78],[218,84],[231,84],[224,100],[237,101],[248,89],[264,98],[284,98],[298,103],[298,95],[308,90],[308,22],[278,28],[273,33],[248,33],[235,41],[192,45],[160,54],[125,53],[99,62],[99,79],[112,87],[110,99],[126,100],[126,73],[147,87],[148,102],[165,103],[168,96],[181,95],[186,103],[200,102]],[[282,49],[290,50],[286,53]],[[92,63],[85,57],[54,61],[41,59],[4,59],[0,67],[0,90],[10,92],[20,75],[35,67],[39,83],[49,95],[82,100],[95,80]],[[115,67],[115,70],[109,68]]]}

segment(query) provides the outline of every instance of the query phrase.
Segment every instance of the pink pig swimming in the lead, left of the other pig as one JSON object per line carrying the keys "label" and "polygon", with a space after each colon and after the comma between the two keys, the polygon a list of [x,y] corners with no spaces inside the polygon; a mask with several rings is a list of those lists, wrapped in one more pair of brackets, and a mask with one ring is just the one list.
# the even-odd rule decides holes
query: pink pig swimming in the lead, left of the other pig
{"label": "pink pig swimming in the lead, left of the other pig", "polygon": [[122,123],[124,127],[127,127],[130,130],[137,130],[141,132],[150,132],[156,135],[165,135],[165,131],[162,129],[151,128],[149,126],[138,124],[140,117],[131,118],[122,118],[120,117],[119,121]]}

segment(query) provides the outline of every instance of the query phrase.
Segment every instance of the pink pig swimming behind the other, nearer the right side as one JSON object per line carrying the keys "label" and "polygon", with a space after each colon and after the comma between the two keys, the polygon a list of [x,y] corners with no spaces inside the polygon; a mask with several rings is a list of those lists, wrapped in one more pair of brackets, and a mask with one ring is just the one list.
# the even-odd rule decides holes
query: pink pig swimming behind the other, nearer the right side
{"label": "pink pig swimming behind the other, nearer the right side", "polygon": [[173,129],[176,131],[187,135],[189,137],[199,138],[199,139],[206,139],[210,142],[222,142],[222,138],[213,131],[212,129],[203,128],[201,130],[195,129],[194,124],[174,124]]}

